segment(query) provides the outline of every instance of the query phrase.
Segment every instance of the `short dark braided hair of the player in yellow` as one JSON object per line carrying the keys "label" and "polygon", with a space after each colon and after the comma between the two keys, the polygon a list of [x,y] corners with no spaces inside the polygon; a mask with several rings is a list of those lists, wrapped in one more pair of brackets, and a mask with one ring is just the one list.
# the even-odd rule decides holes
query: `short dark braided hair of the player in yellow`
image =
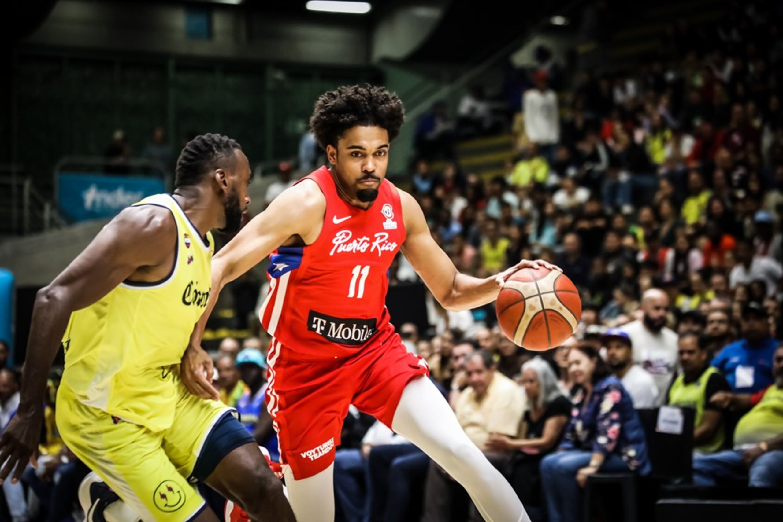
{"label": "short dark braided hair of the player in yellow", "polygon": [[179,153],[175,188],[197,185],[208,171],[214,171],[227,158],[233,160],[234,150],[242,150],[242,146],[228,136],[203,134],[191,139]]}

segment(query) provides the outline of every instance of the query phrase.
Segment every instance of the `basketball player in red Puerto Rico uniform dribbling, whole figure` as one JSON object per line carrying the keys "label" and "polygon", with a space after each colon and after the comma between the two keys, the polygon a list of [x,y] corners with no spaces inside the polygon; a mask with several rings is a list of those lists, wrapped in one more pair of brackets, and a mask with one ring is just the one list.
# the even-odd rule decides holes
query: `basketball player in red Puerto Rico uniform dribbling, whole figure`
{"label": "basketball player in red Puerto Rico uniform dribbling, whole figure", "polygon": [[[384,179],[390,142],[404,119],[399,98],[379,87],[322,95],[310,120],[330,168],[273,200],[212,261],[208,311],[226,283],[271,254],[260,315],[272,336],[267,405],[280,440],[289,500],[299,522],[334,520],[334,450],[348,405],[419,446],[494,522],[529,520],[503,476],[464,433],[449,404],[411,355],[384,306],[388,268],[402,250],[444,308],[495,301],[514,271],[553,268],[521,261],[494,277],[457,272],[432,239],[413,196]],[[217,397],[193,332],[182,375],[193,393]]]}

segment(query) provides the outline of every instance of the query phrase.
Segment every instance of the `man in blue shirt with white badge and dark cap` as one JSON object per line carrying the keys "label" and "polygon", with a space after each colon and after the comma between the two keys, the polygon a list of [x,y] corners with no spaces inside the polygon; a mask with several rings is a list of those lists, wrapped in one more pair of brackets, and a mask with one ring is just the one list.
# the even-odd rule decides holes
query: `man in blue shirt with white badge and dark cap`
{"label": "man in blue shirt with white badge and dark cap", "polygon": [[778,341],[770,337],[767,309],[752,302],[742,310],[742,339],[724,347],[713,358],[720,370],[739,394],[754,394],[773,383],[772,357]]}

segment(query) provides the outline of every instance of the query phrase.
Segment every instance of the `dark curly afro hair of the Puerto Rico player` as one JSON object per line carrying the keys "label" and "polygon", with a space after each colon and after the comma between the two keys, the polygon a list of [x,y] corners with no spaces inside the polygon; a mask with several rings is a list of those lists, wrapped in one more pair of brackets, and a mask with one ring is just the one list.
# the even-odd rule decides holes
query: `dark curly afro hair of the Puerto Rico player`
{"label": "dark curly afro hair of the Puerto Rico player", "polygon": [[323,93],[310,118],[310,128],[322,149],[337,146],[337,139],[357,125],[386,129],[389,141],[399,135],[405,121],[402,101],[377,85],[350,85]]}

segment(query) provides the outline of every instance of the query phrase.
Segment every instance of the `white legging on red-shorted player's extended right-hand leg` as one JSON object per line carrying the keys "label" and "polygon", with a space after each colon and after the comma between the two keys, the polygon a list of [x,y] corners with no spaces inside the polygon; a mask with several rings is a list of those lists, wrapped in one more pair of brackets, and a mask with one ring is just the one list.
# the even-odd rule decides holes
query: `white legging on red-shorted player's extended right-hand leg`
{"label": "white legging on red-shorted player's extended right-hand leg", "polygon": [[529,522],[511,485],[467,437],[449,403],[429,379],[408,383],[391,428],[462,484],[485,520]]}

